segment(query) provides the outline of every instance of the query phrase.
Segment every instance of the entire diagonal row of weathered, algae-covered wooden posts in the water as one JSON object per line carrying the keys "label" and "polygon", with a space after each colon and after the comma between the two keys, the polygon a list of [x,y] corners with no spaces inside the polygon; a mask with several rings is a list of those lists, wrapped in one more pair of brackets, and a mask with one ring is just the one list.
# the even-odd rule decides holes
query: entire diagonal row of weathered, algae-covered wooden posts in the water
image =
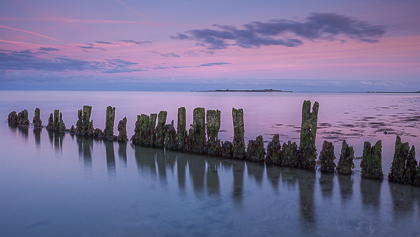
{"label": "entire diagonal row of weathered, algae-covered wooden posts in the water", "polygon": [[[337,165],[334,163],[336,157],[332,142],[324,141],[317,160],[318,154],[315,147],[315,138],[318,108],[319,104],[315,102],[311,112],[311,102],[303,102],[299,146],[295,142],[291,143],[290,141],[281,144],[278,134],[273,136],[267,145],[267,149],[264,147],[262,136],[256,137],[255,140],[249,140],[248,146],[246,146],[243,110],[235,108],[232,108],[234,128],[232,142],[221,141],[218,138],[221,115],[219,110],[208,110],[206,114],[204,108],[195,108],[193,111],[193,124],[187,131],[185,107],[178,109],[178,124],[176,128],[173,120],[170,124],[166,124],[166,111],[160,111],[159,114],[150,114],[150,116],[145,114],[138,115],[131,142],[133,145],[165,148],[230,159],[266,162],[267,164],[309,170],[315,170],[318,164],[321,172],[337,172],[342,175],[350,175],[353,173],[352,169],[355,168],[353,163],[355,157],[353,147],[349,146],[345,140],[342,144]],[[83,109],[78,111],[76,127],[72,125],[70,129],[66,129],[62,120],[62,114],[59,110],[55,110],[54,115],[50,114],[46,129],[52,132],[67,131],[72,135],[97,139],[119,142],[128,141],[127,119],[125,117],[118,123],[118,136],[114,135],[115,107],[107,107],[104,131],[99,128],[93,128],[93,120],[90,120],[91,111],[91,106],[83,106]],[[29,126],[28,111],[11,112],[8,116],[8,123],[12,126]],[[33,126],[42,128],[39,108],[35,109]],[[362,168],[362,177],[383,179],[381,141],[378,141],[374,146],[369,142],[364,143],[360,167]],[[420,186],[420,169],[415,159],[415,148],[412,146],[410,149],[409,144],[402,143],[399,136],[397,136],[395,143],[394,159],[388,179]]]}

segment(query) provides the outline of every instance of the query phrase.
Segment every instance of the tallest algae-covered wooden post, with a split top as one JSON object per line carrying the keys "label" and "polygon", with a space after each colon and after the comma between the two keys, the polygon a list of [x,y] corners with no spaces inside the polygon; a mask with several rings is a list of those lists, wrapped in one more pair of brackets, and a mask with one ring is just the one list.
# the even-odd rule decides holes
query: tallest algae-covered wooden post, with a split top
{"label": "tallest algae-covered wooden post, with a split top", "polygon": [[302,126],[300,130],[299,166],[305,169],[315,169],[316,160],[316,129],[318,121],[318,102],[314,103],[311,113],[311,101],[305,100],[302,106]]}

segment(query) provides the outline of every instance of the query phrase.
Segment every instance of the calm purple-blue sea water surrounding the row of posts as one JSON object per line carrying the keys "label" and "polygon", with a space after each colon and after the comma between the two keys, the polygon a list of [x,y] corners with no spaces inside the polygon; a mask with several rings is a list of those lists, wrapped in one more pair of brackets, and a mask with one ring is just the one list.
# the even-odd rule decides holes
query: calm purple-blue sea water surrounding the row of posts
{"label": "calm purple-blue sea water surrounding the row of posts", "polygon": [[[187,108],[222,112],[222,140],[232,140],[232,107],[244,109],[245,136],[299,139],[303,100],[318,101],[317,148],[341,141],[361,156],[363,142],[383,142],[383,170],[396,134],[420,147],[417,94],[22,92],[0,91],[0,236],[420,236],[420,188],[242,161],[10,128],[13,110],[54,109],[67,127],[93,106],[105,127],[108,105],[127,117]],[[117,124],[117,121],[116,121]],[[116,131],[116,128],[114,128]],[[386,132],[386,134],[384,133]],[[419,149],[419,148],[418,148]],[[417,154],[419,160],[419,154]]]}

